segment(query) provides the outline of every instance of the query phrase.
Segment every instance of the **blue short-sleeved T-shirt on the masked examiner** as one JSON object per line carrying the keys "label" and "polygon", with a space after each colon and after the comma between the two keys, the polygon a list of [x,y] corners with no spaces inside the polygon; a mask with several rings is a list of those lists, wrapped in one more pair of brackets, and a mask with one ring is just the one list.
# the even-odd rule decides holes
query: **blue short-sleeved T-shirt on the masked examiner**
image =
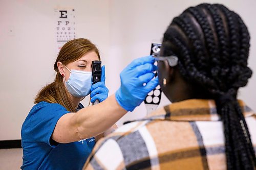
{"label": "blue short-sleeved T-shirt on the masked examiner", "polygon": [[[78,110],[83,108],[81,104]],[[69,113],[59,104],[40,102],[29,112],[22,125],[22,169],[82,169],[95,139],[57,143],[51,139],[58,119]]]}

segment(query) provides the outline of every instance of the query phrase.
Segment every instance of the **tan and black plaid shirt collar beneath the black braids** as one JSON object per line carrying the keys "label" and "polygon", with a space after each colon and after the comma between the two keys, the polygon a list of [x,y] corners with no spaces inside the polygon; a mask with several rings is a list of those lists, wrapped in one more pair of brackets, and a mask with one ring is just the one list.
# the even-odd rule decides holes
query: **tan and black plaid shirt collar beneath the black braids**
{"label": "tan and black plaid shirt collar beneath the black braids", "polygon": [[[242,100],[238,100],[245,117],[255,113]],[[148,115],[150,119],[168,119],[177,121],[218,121],[214,100],[190,99],[172,103]]]}

